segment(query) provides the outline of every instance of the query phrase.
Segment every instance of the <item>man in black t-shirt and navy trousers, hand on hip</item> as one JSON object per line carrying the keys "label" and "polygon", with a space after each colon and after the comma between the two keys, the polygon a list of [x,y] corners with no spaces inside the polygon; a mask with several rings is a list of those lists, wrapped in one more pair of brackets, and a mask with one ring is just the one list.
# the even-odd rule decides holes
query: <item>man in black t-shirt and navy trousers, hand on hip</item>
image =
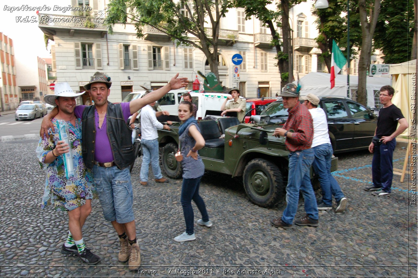
{"label": "man in black t-shirt and navy trousers, hand on hip", "polygon": [[[365,187],[366,191],[374,191],[376,196],[389,196],[393,178],[393,150],[395,150],[396,136],[408,128],[408,122],[402,112],[392,103],[395,90],[385,85],[380,88],[379,99],[383,107],[377,117],[375,137],[369,145],[370,153],[373,153],[372,180],[373,185]],[[399,127],[396,128],[398,126]]]}

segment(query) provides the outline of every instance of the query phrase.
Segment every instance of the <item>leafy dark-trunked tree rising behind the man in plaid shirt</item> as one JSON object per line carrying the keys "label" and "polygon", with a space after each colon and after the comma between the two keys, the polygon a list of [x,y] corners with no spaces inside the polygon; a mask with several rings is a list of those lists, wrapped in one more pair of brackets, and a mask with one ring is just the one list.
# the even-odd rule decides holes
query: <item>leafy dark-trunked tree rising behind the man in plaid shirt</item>
{"label": "leafy dark-trunked tree rising behind the man in plaid shirt", "polygon": [[[293,49],[289,24],[289,8],[290,5],[296,5],[302,1],[280,0],[280,2],[277,2],[275,10],[269,10],[266,7],[272,3],[271,0],[236,0],[234,3],[235,7],[245,8],[247,18],[255,16],[270,29],[272,36],[271,45],[276,50],[275,59],[277,59],[282,87],[286,83],[293,81],[293,76],[290,72],[293,69]],[[282,29],[282,38],[279,35],[280,28]]]}

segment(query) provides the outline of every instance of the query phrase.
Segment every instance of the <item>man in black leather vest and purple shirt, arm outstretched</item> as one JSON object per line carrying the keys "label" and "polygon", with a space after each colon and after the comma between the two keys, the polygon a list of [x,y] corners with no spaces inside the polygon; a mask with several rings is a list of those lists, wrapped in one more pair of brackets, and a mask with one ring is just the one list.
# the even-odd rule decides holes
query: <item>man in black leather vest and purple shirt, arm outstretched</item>
{"label": "man in black leather vest and purple shirt, arm outstretched", "polygon": [[[104,218],[112,223],[120,238],[121,250],[118,259],[120,262],[129,261],[130,270],[139,267],[141,257],[136,242],[129,172],[135,155],[131,141],[132,131],[126,122],[130,115],[145,105],[161,99],[171,89],[185,87],[188,82],[186,77],[178,77],[176,74],[164,87],[142,98],[113,104],[107,100],[112,85],[110,77],[96,72],[84,86],[89,90],[94,105],[80,105],[74,111],[77,117],[82,118],[83,158],[87,168],[93,169]],[[41,134],[50,126],[48,115],[42,122]]]}

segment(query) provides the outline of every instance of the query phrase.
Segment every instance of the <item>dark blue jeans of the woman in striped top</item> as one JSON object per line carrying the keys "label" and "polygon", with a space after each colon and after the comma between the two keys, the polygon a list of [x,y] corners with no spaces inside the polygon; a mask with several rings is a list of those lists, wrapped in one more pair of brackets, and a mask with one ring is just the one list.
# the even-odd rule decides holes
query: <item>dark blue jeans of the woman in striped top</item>
{"label": "dark blue jeans of the woman in striped top", "polygon": [[197,208],[202,214],[204,222],[209,221],[208,213],[206,212],[205,202],[199,195],[200,179],[183,179],[181,185],[181,206],[183,207],[184,220],[186,222],[186,233],[189,235],[194,233],[194,213],[191,207],[191,200],[196,203]]}

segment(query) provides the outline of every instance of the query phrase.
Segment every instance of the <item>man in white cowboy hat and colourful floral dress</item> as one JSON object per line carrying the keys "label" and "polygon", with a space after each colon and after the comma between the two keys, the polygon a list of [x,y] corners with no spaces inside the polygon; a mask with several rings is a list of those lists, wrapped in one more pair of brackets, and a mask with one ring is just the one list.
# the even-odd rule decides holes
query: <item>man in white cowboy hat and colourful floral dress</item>
{"label": "man in white cowboy hat and colourful floral dress", "polygon": [[[58,114],[52,119],[57,132],[49,138],[41,138],[36,153],[41,167],[47,170],[41,207],[54,204],[57,211],[68,213],[69,232],[61,253],[78,255],[84,262],[95,264],[100,258],[86,248],[82,235],[84,221],[92,211],[92,199],[97,199],[97,193],[92,183],[92,173],[86,169],[81,157],[81,120],[74,115],[75,98],[80,94],[75,94],[69,84],[64,82],[55,85],[55,94],[48,94],[43,98],[46,103],[58,107]],[[65,168],[62,154],[68,153],[70,146],[59,138],[59,120],[64,120],[69,127],[69,142],[75,166],[74,176],[71,178],[67,178],[65,172],[60,171]]]}

